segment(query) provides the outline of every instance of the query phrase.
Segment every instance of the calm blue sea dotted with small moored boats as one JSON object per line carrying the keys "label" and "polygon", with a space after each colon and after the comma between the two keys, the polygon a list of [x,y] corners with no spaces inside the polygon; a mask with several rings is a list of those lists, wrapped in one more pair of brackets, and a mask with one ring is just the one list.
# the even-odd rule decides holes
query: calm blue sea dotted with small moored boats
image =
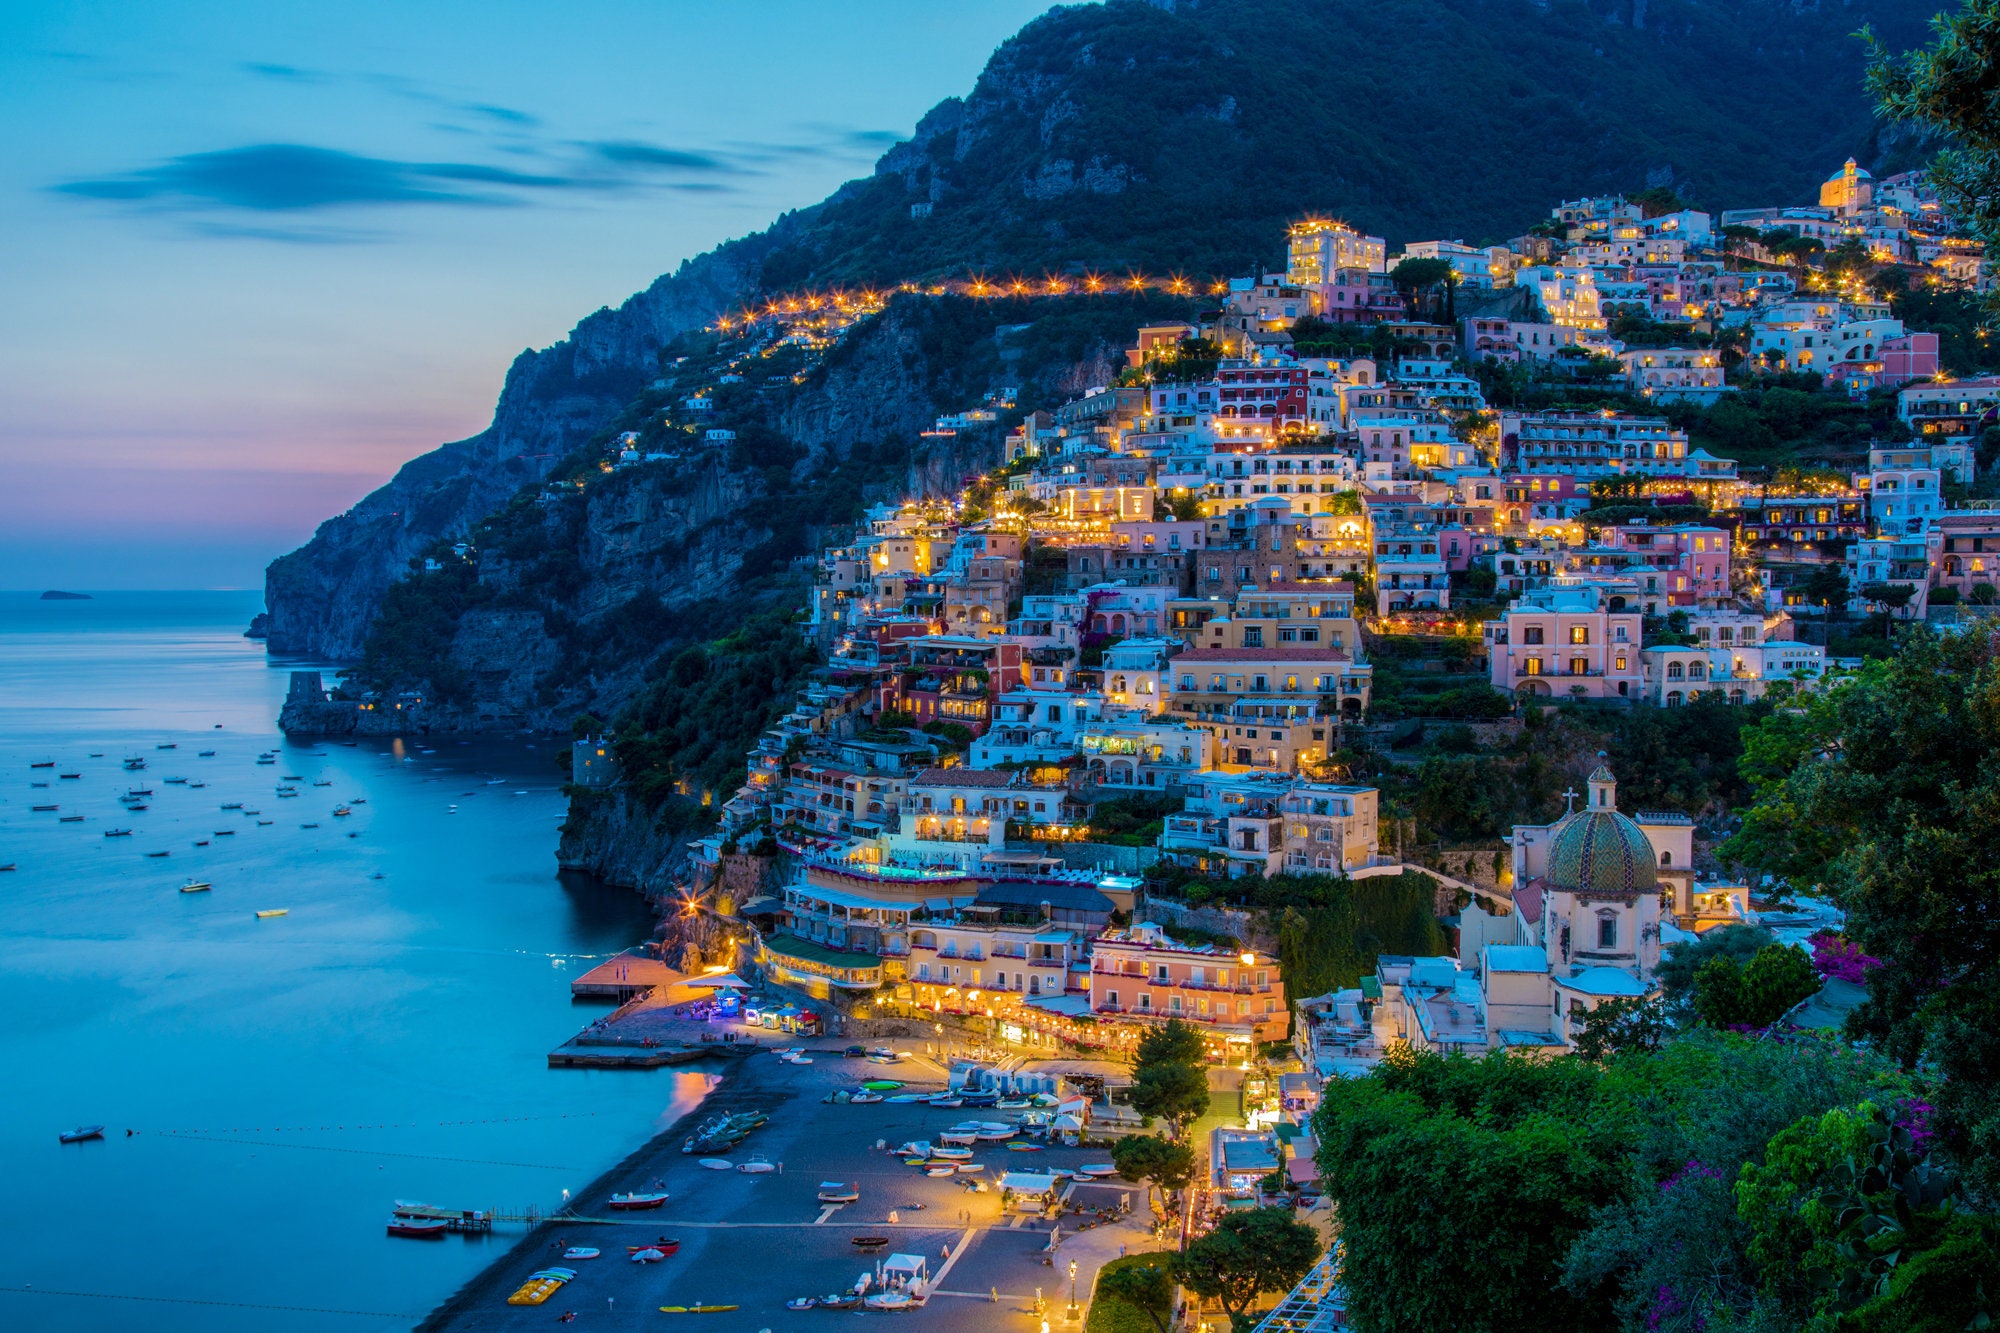
{"label": "calm blue sea dotted with small moored boats", "polygon": [[600,1013],[568,979],[650,927],[558,881],[552,747],[290,745],[258,600],[0,594],[0,1327],[408,1327],[518,1229],[388,1239],[394,1199],[548,1207],[704,1091],[544,1065]]}

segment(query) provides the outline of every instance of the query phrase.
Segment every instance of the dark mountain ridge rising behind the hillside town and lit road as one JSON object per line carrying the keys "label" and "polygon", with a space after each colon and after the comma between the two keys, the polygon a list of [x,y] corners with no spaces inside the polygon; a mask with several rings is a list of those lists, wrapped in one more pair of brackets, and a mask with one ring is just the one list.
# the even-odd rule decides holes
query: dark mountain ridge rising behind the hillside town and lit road
{"label": "dark mountain ridge rising behind the hillside town and lit road", "polygon": [[[268,644],[360,658],[412,558],[470,534],[580,448],[602,446],[658,380],[662,352],[748,300],[968,272],[1244,272],[1278,262],[1284,222],[1308,212],[1338,212],[1392,240],[1496,240],[1594,190],[1664,184],[1712,208],[1802,200],[1848,154],[1894,164],[1900,148],[1862,98],[1852,34],[1866,22],[1908,44],[1928,12],[1912,0],[1110,0],[1052,10],[994,52],[964,98],[932,108],[872,176],[684,262],[556,346],[522,352],[492,426],[412,460],[272,562]],[[770,428],[792,432],[800,458],[818,466],[844,456],[844,440],[914,426],[928,410],[916,400],[932,388],[912,398],[906,378],[830,376]],[[762,494],[716,472],[668,508],[634,498],[630,514],[592,508],[584,526],[612,524],[644,546],[654,526],[706,534]],[[796,550],[804,532],[760,540]],[[724,592],[728,562],[750,550],[642,568],[620,562],[622,542],[578,554],[608,560],[592,564],[606,604],[662,568],[720,574],[706,586]]]}

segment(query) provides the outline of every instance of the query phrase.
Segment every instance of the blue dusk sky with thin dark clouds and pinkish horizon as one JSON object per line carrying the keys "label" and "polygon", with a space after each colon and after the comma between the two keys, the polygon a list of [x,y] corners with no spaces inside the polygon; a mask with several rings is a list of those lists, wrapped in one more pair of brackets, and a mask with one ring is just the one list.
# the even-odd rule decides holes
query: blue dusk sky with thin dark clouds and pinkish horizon
{"label": "blue dusk sky with thin dark clouds and pinkish horizon", "polygon": [[242,588],[1046,0],[0,0],[0,588]]}

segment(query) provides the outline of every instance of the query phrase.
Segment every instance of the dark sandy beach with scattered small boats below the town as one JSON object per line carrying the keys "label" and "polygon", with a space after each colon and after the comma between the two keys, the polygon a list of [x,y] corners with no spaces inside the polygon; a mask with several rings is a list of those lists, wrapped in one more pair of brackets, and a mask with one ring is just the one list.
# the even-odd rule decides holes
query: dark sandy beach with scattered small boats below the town
{"label": "dark sandy beach with scattered small boats below the town", "polygon": [[[766,1045],[778,1041],[766,1039]],[[1078,1231],[1074,1213],[1062,1223],[1062,1243],[1050,1257],[1048,1223],[1004,1215],[992,1185],[1008,1169],[1076,1167],[1106,1161],[1096,1149],[1010,1151],[1004,1143],[980,1145],[974,1161],[988,1181],[972,1193],[962,1179],[932,1179],[882,1149],[972,1119],[1012,1119],[1008,1113],[966,1111],[908,1103],[826,1103],[838,1087],[864,1079],[900,1079],[912,1091],[942,1091],[946,1069],[922,1055],[898,1065],[842,1057],[844,1043],[806,1041],[812,1065],[788,1065],[774,1055],[718,1063],[720,1081],[698,1111],[656,1135],[616,1169],[594,1181],[574,1201],[584,1217],[608,1223],[544,1223],[504,1259],[490,1265],[446,1301],[420,1329],[540,1329],[574,1311],[578,1327],[624,1329],[662,1319],[690,1319],[714,1333],[814,1329],[834,1319],[874,1311],[790,1311],[784,1301],[852,1287],[874,1269],[878,1255],[852,1245],[858,1235],[890,1237],[890,1251],[924,1255],[936,1295],[920,1311],[894,1315],[952,1329],[1034,1331],[1036,1289],[1046,1299],[1050,1327],[1064,1327],[1068,1265],[1078,1263],[1078,1299],[1086,1299],[1098,1265],[1150,1249],[1144,1187],[1110,1181],[1080,1185],[1074,1203],[1116,1209],[1130,1197],[1126,1223]],[[908,1043],[894,1043],[908,1045]],[[824,1047],[824,1049],[812,1049]],[[644,1077],[644,1075],[636,1075]],[[704,1169],[682,1153],[692,1127],[722,1111],[764,1111],[770,1123],[734,1151],[732,1163],[760,1157],[770,1173]],[[822,1181],[844,1181],[860,1199],[844,1207],[818,1203]],[[610,1193],[666,1189],[670,1199],[656,1213],[610,1213]],[[918,1207],[922,1205],[922,1207]],[[898,1215],[888,1221],[890,1211]],[[672,1237],[680,1251],[662,1263],[630,1263],[628,1247]],[[600,1249],[598,1259],[570,1261],[576,1281],[546,1305],[516,1307],[506,1297],[536,1269],[564,1263],[568,1245]],[[1052,1259],[1044,1263],[1044,1259]],[[998,1299],[994,1295],[998,1293]],[[660,1305],[736,1305],[712,1315],[662,1315]],[[1072,1325],[1080,1327],[1080,1325]]]}

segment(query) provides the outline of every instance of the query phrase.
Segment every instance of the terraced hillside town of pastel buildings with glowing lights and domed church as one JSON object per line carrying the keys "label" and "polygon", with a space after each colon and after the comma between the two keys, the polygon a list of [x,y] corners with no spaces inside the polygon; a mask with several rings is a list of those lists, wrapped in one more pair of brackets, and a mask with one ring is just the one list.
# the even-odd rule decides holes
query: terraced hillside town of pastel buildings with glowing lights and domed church
{"label": "terraced hillside town of pastel buildings with glowing lights and domed church", "polygon": [[[760,963],[818,995],[990,1017],[1022,1041],[1116,1045],[1172,1017],[1224,1047],[1286,1037],[1276,959],[1160,921],[1140,871],[1402,871],[1378,793],[1338,761],[1368,719],[1374,632],[1456,636],[1512,699],[1748,703],[1824,675],[1790,632],[1820,566],[1842,564],[1856,596],[1920,584],[1914,614],[1932,584],[1980,600],[2000,580],[2000,512],[1944,504],[2000,380],[1938,380],[1934,342],[1880,306],[1726,262],[1792,230],[1984,282],[1962,244],[1932,250],[1938,226],[1922,182],[1876,186],[1852,162],[1816,210],[1722,228],[1590,198],[1508,246],[1392,256],[1298,224],[1286,272],[1136,330],[1120,382],[1014,420],[1012,390],[940,418],[940,434],[1006,428],[1004,466],[876,506],[818,556],[804,632],[826,664],[750,753],[698,861],[720,871],[750,839],[790,853],[782,887],[730,907],[758,927]],[[1464,318],[1412,310],[1400,258],[1448,264]],[[1490,410],[1468,370],[1616,360],[1640,398],[1736,392],[1708,348],[1620,344],[1624,316],[1746,324],[1774,368],[1902,384],[1912,440],[1874,448],[1850,484],[1790,490],[1666,416]],[[1368,324],[1342,346],[1374,354],[1320,354],[1328,324]],[[1638,518],[1586,526],[1608,494]],[[1710,518],[1646,520],[1648,502]],[[582,747],[576,781],[616,781]],[[1106,843],[1106,801],[1144,835]],[[1578,1013],[1650,985],[1674,931],[1746,911],[1740,887],[1694,881],[1688,821],[1620,815],[1608,773],[1580,811],[1516,829],[1502,883],[1462,915],[1456,959],[1384,959],[1360,991],[1312,1001],[1310,1067],[1366,1059],[1390,1029],[1562,1047]]]}

